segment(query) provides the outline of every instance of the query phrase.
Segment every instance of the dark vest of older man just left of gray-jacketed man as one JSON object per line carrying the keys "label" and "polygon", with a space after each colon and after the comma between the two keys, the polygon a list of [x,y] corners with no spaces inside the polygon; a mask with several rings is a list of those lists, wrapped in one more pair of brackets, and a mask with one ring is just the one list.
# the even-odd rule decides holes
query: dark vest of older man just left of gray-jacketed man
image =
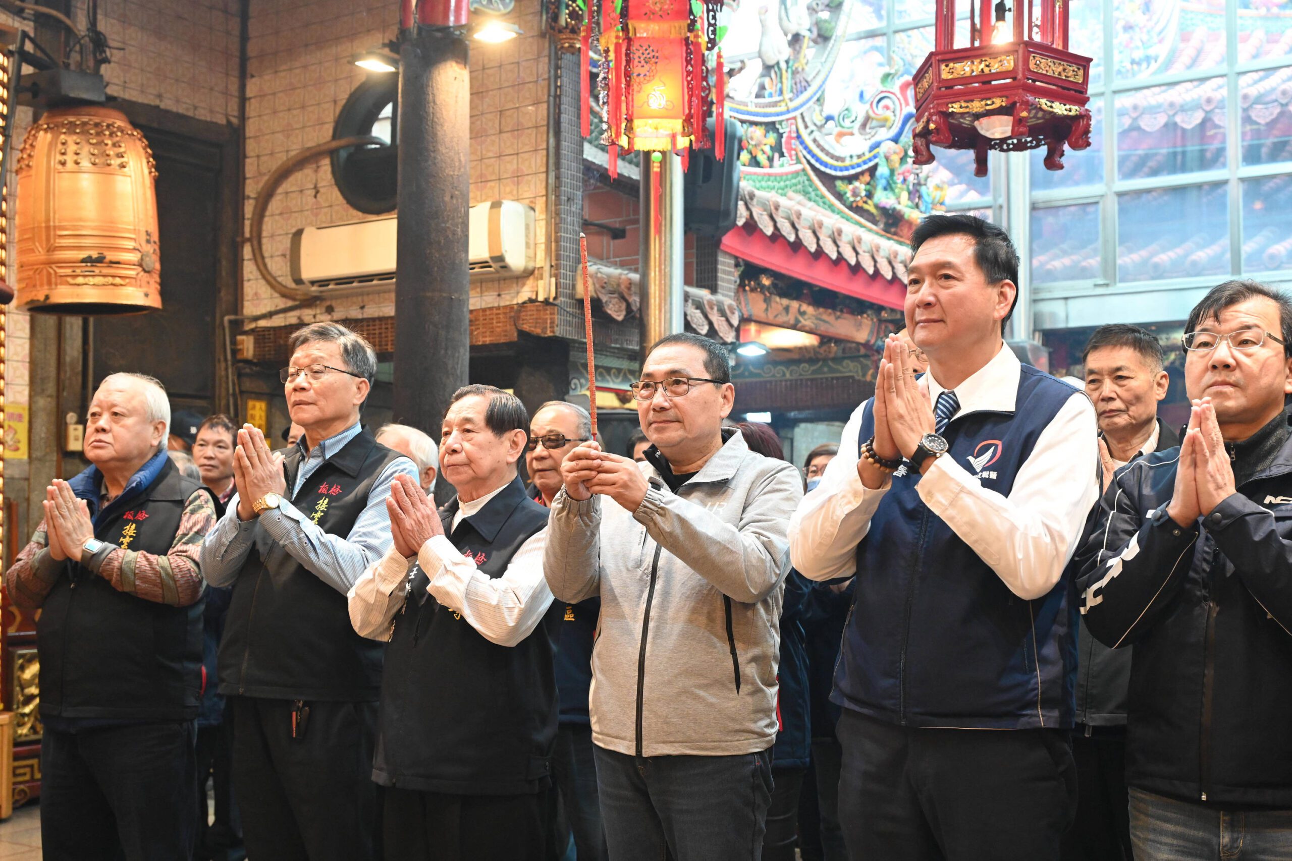
{"label": "dark vest of older man just left of gray-jacketed man", "polygon": [[[492,578],[548,523],[519,478],[451,529],[456,512],[456,498],[441,510],[450,542]],[[553,613],[516,645],[499,645],[435,600],[428,583],[415,567],[386,645],[372,778],[457,795],[544,789],[557,734]]]}

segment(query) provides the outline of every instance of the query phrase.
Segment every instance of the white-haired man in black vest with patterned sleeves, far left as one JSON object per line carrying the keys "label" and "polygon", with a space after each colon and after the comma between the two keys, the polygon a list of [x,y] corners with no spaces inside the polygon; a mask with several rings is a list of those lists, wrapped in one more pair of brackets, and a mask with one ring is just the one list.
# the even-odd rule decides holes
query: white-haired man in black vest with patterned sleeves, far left
{"label": "white-haired man in black vest with patterned sleeves, far left", "polygon": [[41,840],[47,857],[187,858],[196,830],[199,549],[211,492],[167,457],[171,407],[116,373],[85,417],[90,466],[47,488],[4,576],[40,611]]}

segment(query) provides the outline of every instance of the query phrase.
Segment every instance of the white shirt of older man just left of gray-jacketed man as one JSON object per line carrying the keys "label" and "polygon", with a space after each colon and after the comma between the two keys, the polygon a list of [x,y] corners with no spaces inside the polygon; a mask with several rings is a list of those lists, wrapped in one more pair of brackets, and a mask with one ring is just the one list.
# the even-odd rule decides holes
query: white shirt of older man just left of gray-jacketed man
{"label": "white shirt of older man just left of gray-jacketed man", "polygon": [[[510,481],[477,500],[461,502],[450,532],[483,509],[508,484]],[[543,577],[547,543],[548,528],[544,527],[521,545],[501,577],[481,573],[475,560],[464,556],[447,536],[434,536],[416,556],[408,559],[391,545],[386,555],[368,565],[350,589],[350,623],[360,636],[389,640],[395,613],[408,594],[408,572],[419,564],[430,578],[426,591],[437,602],[461,613],[491,643],[516,645],[534,633],[552,605],[552,590]]]}

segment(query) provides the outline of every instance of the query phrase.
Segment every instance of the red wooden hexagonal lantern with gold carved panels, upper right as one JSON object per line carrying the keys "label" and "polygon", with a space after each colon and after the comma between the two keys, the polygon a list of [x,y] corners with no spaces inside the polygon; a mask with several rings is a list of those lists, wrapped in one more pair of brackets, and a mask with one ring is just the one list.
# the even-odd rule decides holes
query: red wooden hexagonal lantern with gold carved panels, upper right
{"label": "red wooden hexagonal lantern with gold carved panels, upper right", "polygon": [[1005,0],[969,0],[961,48],[956,0],[934,1],[934,50],[915,74],[916,164],[933,163],[930,145],[973,150],[974,176],[983,177],[987,150],[1044,145],[1045,167],[1062,170],[1065,145],[1090,146],[1090,58],[1067,49],[1067,0],[1013,0],[1013,9]]}

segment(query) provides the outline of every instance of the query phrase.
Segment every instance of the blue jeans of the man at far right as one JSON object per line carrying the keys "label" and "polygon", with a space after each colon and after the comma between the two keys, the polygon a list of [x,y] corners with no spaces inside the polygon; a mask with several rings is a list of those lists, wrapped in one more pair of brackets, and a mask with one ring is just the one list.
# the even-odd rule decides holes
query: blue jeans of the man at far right
{"label": "blue jeans of the man at far right", "polygon": [[1130,843],[1136,861],[1286,861],[1292,811],[1226,813],[1132,786]]}

